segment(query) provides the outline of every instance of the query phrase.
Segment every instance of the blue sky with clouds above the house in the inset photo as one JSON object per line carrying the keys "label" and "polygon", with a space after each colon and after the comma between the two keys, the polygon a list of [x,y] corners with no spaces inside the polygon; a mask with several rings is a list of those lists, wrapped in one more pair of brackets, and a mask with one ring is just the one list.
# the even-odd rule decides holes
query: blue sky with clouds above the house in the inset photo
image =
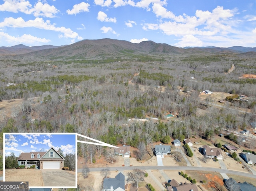
{"label": "blue sky with clouds above the house in the inset photo", "polygon": [[5,156],[14,152],[47,151],[50,147],[62,149],[63,154],[76,152],[76,134],[7,134],[5,135]]}

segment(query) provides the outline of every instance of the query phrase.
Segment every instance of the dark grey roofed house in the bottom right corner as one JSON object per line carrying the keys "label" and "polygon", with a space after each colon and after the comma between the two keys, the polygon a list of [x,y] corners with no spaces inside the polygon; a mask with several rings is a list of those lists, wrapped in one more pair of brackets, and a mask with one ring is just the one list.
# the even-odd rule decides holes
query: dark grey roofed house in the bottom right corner
{"label": "dark grey roofed house in the bottom right corner", "polygon": [[233,178],[224,179],[224,186],[228,190],[232,188],[232,190],[236,190],[236,191],[256,191],[256,187],[249,184],[248,182],[237,183]]}

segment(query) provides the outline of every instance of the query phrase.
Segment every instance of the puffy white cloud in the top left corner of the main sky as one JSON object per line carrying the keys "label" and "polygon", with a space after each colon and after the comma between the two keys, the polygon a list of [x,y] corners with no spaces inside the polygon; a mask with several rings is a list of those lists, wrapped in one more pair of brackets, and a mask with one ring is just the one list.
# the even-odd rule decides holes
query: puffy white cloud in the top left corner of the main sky
{"label": "puffy white cloud in the top left corner of the main sky", "polygon": [[53,5],[38,1],[34,7],[29,1],[25,0],[4,0],[4,4],[0,5],[0,11],[22,12],[25,14],[33,14],[34,16],[43,16],[53,18],[59,12]]}

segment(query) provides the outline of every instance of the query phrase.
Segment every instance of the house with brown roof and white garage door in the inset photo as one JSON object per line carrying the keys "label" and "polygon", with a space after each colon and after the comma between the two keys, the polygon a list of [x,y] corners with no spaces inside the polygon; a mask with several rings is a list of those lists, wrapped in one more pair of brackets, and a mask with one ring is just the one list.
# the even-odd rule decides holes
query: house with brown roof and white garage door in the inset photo
{"label": "house with brown roof and white garage door in the inset photo", "polygon": [[38,169],[62,169],[64,158],[51,147],[46,152],[21,153],[18,158],[18,165],[25,165],[25,168],[35,165]]}

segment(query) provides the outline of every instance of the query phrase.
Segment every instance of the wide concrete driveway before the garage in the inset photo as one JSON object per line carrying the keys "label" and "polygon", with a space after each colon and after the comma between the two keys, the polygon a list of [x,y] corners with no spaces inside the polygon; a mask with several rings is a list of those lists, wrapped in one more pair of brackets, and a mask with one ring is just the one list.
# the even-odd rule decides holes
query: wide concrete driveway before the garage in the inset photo
{"label": "wide concrete driveway before the garage in the inset photo", "polygon": [[76,186],[76,175],[74,172],[61,169],[41,169],[41,171],[44,186]]}

